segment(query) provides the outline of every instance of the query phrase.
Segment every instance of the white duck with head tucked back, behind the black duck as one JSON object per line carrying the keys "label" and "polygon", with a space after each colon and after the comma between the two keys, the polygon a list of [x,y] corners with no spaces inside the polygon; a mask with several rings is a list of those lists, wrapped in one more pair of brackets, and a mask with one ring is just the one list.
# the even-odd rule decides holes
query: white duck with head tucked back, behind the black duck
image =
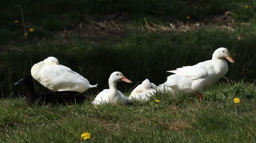
{"label": "white duck with head tucked back, behind the black duck", "polygon": [[90,88],[96,88],[80,74],[70,68],[59,65],[59,61],[53,56],[34,64],[31,68],[32,77],[47,89],[53,92],[76,91],[83,93]]}

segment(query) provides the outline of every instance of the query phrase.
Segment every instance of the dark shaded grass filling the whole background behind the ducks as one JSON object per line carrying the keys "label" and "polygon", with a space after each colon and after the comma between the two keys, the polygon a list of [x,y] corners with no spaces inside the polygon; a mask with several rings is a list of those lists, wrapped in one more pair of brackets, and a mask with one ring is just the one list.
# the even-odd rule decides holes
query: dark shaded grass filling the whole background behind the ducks
{"label": "dark shaded grass filling the whole background behind the ducks", "polygon": [[[0,12],[1,97],[11,96],[13,83],[30,72],[35,64],[48,56],[55,56],[63,65],[88,78],[98,89],[108,88],[113,71],[121,71],[128,78],[145,78],[163,83],[172,70],[211,59],[215,49],[226,47],[236,64],[229,64],[226,75],[231,80],[255,80],[255,4],[253,1],[2,1]],[[17,6],[18,5],[18,6]],[[245,8],[248,6],[248,8]],[[23,8],[28,45],[24,38]],[[220,28],[216,15],[231,11],[233,31]],[[190,16],[190,19],[186,19]],[[174,19],[184,23],[203,21],[205,25],[188,32],[149,31],[148,23],[168,25]],[[119,33],[94,38],[84,37],[92,21],[118,21]],[[14,23],[19,20],[19,23]],[[246,24],[244,24],[246,23]],[[88,27],[90,28],[90,27]],[[101,27],[102,28],[102,27]],[[104,31],[104,28],[99,31]],[[89,31],[90,33],[90,31]],[[93,33],[94,34],[94,33]],[[121,90],[135,84],[120,83]]]}

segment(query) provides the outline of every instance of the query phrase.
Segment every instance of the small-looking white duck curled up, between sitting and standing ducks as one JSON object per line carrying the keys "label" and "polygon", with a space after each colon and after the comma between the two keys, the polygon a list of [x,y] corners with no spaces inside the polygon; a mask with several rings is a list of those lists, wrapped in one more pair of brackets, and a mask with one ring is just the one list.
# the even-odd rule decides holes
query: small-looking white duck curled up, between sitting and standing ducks
{"label": "small-looking white duck curled up, between sitting and standing ducks", "polygon": [[156,93],[157,85],[145,79],[129,96],[129,100],[146,101]]}

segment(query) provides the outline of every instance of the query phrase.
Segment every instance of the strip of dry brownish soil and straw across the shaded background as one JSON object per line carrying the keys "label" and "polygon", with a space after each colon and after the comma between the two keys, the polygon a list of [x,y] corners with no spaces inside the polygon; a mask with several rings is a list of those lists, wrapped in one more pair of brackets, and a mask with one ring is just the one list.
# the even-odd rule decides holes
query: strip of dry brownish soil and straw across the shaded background
{"label": "strip of dry brownish soil and straw across the shaded background", "polygon": [[168,24],[159,24],[159,22],[148,21],[144,18],[144,25],[137,27],[125,26],[124,24],[127,21],[126,17],[125,14],[117,13],[107,15],[99,21],[87,18],[87,21],[78,24],[73,30],[65,30],[59,32],[57,35],[64,41],[68,36],[78,34],[86,40],[97,42],[108,38],[121,38],[124,28],[135,29],[138,31],[189,32],[198,30],[201,27],[214,27],[220,28],[221,30],[234,31],[233,25],[235,22],[233,13],[230,11],[226,11],[223,15],[211,16],[204,21],[191,21],[190,17],[187,17],[187,21],[182,22],[169,17],[170,22],[167,22]]}

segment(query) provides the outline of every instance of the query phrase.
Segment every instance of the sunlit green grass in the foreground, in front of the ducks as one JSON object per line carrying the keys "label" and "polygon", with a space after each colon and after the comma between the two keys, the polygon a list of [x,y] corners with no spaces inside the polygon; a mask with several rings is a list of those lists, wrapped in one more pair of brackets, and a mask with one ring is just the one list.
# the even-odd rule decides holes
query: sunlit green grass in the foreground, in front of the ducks
{"label": "sunlit green grass in the foreground, in front of the ducks", "polygon": [[255,142],[255,89],[245,82],[217,83],[202,102],[164,93],[145,103],[98,108],[90,101],[37,106],[24,98],[2,99],[0,141],[79,142],[90,132],[86,142]]}

